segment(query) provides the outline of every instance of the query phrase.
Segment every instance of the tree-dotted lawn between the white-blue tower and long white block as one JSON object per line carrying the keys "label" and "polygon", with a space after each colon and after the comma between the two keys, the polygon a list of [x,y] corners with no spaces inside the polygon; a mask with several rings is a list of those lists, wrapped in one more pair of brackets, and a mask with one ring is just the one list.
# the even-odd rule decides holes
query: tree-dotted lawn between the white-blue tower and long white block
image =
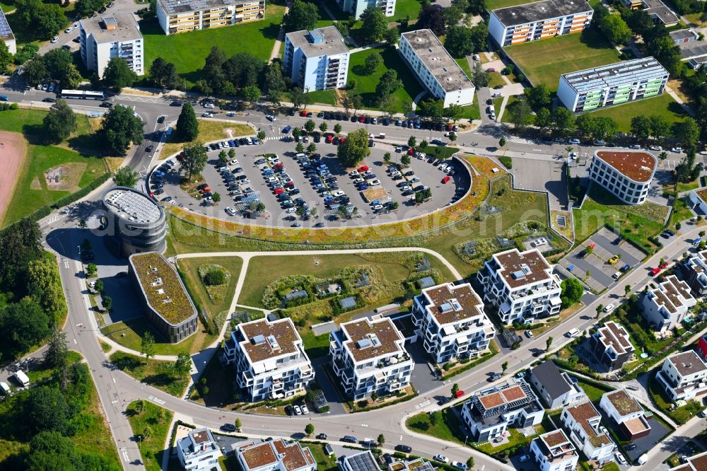
{"label": "tree-dotted lawn between the white-blue tower and long white block", "polygon": [[[363,64],[366,62],[366,57],[373,54],[373,52],[378,52],[382,56],[383,63],[378,67],[378,69],[373,71],[373,74],[367,74],[364,70]],[[392,95],[396,111],[402,112],[402,104],[405,101],[412,103],[413,98],[415,98],[418,93],[422,91],[422,88],[415,79],[414,75],[411,74],[410,69],[408,69],[402,57],[400,57],[397,50],[394,48],[384,49],[377,47],[375,49],[351,54],[351,61],[349,62],[349,81],[351,79],[356,80],[356,88],[354,88],[351,93],[354,95],[361,95],[363,104],[366,105],[366,107],[370,109],[378,109],[377,98],[375,96],[375,86],[378,85],[380,77],[388,69],[394,69],[397,71],[398,79],[402,80],[403,83],[403,86]]]}

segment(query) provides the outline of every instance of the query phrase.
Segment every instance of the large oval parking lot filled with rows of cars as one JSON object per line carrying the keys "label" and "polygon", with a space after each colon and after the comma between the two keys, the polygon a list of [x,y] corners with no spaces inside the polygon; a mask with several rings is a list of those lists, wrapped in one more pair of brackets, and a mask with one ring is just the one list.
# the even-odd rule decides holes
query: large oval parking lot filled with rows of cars
{"label": "large oval parking lot filled with rows of cars", "polygon": [[[403,167],[399,163],[405,150],[396,151],[380,141],[356,169],[339,163],[334,144],[311,138],[303,145],[312,143],[317,151],[310,157],[296,153],[297,142],[288,136],[260,145],[228,147],[227,143],[223,150],[235,151],[235,160],[229,157],[226,165],[218,158],[221,149],[209,149],[201,174],[210,188],[206,194],[213,197],[218,192],[221,202],[197,199],[183,190],[178,165],[165,174],[158,199],[169,196],[174,204],[192,211],[267,226],[363,226],[440,209],[461,197],[471,184],[469,173],[457,163],[448,163],[452,168],[445,171],[432,158],[412,155],[410,164]],[[386,152],[391,153],[390,163],[384,161]],[[431,197],[416,203],[416,193],[426,188]],[[252,211],[253,201],[262,202],[265,211]]]}

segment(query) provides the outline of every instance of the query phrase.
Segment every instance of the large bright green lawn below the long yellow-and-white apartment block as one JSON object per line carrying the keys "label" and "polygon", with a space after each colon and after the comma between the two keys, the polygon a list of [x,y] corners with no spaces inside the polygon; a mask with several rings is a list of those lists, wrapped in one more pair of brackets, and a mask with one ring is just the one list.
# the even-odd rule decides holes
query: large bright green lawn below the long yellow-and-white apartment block
{"label": "large bright green lawn below the long yellow-and-white apartment block", "polygon": [[267,2],[265,18],[243,25],[165,35],[156,20],[141,21],[140,32],[145,38],[145,69],[157,57],[177,66],[179,74],[189,85],[199,80],[199,69],[211,47],[218,47],[230,57],[236,52],[250,52],[267,61],[282,23],[285,7]]}

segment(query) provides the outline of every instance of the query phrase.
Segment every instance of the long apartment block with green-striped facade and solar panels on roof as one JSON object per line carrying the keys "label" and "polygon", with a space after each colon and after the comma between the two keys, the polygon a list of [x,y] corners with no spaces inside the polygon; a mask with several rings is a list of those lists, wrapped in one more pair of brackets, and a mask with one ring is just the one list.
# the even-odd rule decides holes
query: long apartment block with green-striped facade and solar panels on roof
{"label": "long apartment block with green-striped facade and solar panels on roof", "polygon": [[653,57],[633,59],[560,76],[559,98],[573,112],[662,95],[668,71]]}

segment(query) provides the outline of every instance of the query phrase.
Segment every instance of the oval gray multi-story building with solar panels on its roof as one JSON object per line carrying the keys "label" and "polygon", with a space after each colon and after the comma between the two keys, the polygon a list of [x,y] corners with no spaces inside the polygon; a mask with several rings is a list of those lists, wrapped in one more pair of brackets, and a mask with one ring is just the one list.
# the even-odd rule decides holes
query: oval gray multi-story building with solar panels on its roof
{"label": "oval gray multi-story building with solar panels on its roof", "polygon": [[133,188],[112,187],[105,190],[102,202],[108,233],[115,236],[122,255],[165,251],[165,211],[151,197]]}

